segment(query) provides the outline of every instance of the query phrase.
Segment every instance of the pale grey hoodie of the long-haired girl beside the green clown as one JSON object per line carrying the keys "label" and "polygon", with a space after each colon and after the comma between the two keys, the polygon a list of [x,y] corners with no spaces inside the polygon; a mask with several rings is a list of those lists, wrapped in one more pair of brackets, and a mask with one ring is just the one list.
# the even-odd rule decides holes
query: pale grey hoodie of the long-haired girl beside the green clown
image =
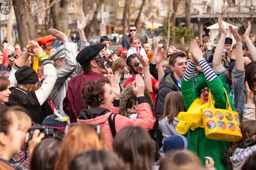
{"label": "pale grey hoodie of the long-haired girl beside the green clown", "polygon": [[[168,138],[169,136],[173,136],[173,135],[179,135],[179,133],[177,132],[177,130],[175,129],[175,127],[177,126],[177,124],[180,121],[177,119],[177,117],[174,118],[174,120],[169,123],[168,122],[168,117],[166,116],[164,119],[160,120],[158,122],[159,124],[159,130],[162,131],[162,135],[163,135],[163,142],[166,138]],[[162,157],[164,155],[163,153],[163,147],[161,147],[160,149],[160,156]]]}

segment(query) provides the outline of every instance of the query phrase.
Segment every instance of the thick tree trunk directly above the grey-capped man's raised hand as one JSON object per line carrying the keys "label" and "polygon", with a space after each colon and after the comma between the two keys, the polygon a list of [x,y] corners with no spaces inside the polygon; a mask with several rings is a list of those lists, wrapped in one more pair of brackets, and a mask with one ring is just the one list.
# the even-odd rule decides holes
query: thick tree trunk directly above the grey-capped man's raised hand
{"label": "thick tree trunk directly above the grey-capped man's raised hand", "polygon": [[[50,0],[50,2],[52,3],[53,0]],[[50,9],[53,27],[64,34],[68,34],[68,5],[69,0],[61,0],[58,3],[54,3]]]}

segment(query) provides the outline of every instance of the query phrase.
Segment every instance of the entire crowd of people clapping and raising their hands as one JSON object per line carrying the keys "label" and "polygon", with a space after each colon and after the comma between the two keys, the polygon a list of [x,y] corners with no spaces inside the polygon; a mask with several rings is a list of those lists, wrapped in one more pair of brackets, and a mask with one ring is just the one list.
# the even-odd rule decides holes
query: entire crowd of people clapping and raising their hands
{"label": "entire crowd of people clapping and raising their hands", "polygon": [[[256,44],[250,22],[243,36],[229,26],[236,44],[219,16],[216,46],[205,36],[188,49],[167,51],[159,37],[153,47],[142,43],[131,25],[122,48],[112,51],[107,36],[97,45],[87,42],[88,20],[87,15],[77,25],[79,51],[52,28],[56,46],[44,45],[49,36],[28,42],[23,51],[4,42],[1,170],[256,168]],[[201,109],[210,106],[229,108],[233,115],[224,116],[234,117],[237,127],[217,127],[237,128],[241,140],[207,136]],[[209,122],[209,129],[217,128]]]}

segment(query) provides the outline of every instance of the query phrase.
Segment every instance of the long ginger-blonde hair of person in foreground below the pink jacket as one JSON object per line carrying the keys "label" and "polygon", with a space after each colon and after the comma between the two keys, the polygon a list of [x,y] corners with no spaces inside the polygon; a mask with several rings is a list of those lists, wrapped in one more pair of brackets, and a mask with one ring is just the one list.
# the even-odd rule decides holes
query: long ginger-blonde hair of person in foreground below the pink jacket
{"label": "long ginger-blonde hair of person in foreground below the pink jacket", "polygon": [[105,149],[104,134],[98,136],[95,128],[87,124],[73,126],[65,135],[54,170],[68,170],[72,160],[87,150]]}

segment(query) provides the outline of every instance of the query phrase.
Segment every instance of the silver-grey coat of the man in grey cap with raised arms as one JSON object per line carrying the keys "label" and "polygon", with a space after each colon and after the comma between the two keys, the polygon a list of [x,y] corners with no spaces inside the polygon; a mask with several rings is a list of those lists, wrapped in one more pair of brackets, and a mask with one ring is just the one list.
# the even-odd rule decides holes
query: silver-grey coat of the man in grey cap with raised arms
{"label": "silver-grey coat of the man in grey cap with raised arms", "polygon": [[60,111],[62,116],[65,115],[63,111],[63,99],[67,93],[67,84],[72,77],[75,77],[77,74],[75,73],[77,66],[76,62],[76,44],[73,42],[64,43],[64,51],[65,51],[65,66],[57,69],[55,68],[57,74],[57,80],[55,82],[54,88],[50,94],[53,104],[55,105],[56,110]]}

